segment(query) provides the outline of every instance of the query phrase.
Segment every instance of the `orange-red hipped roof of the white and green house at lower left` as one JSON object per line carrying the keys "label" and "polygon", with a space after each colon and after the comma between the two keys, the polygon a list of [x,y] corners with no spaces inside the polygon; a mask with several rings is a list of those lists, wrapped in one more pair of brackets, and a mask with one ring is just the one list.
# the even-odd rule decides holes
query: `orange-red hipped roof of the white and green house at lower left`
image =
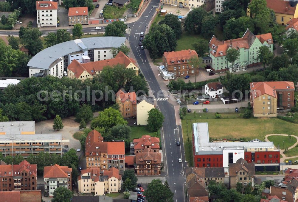
{"label": "orange-red hipped roof of the white and green house at lower left", "polygon": [[72,168],[67,166],[53,165],[44,167],[44,178],[67,178],[68,173],[72,172]]}

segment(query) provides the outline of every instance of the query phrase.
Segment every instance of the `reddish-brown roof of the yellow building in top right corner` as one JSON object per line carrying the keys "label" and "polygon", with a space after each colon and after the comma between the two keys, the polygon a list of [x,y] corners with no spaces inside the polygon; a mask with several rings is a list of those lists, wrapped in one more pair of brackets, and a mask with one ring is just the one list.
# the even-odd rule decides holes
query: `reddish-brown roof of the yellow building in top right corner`
{"label": "reddish-brown roof of the yellow building in top right corner", "polygon": [[283,0],[266,0],[267,7],[274,10],[275,13],[283,13],[288,15],[294,15],[296,6],[291,7],[289,1]]}

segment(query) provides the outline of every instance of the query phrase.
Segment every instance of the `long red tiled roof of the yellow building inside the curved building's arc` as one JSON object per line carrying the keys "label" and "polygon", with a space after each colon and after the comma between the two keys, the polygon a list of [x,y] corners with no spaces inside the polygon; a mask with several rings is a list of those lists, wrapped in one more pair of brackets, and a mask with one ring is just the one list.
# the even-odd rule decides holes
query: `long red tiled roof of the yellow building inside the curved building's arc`
{"label": "long red tiled roof of the yellow building inside the curved building's arc", "polygon": [[81,74],[84,71],[87,71],[91,75],[95,75],[96,72],[103,71],[103,68],[105,66],[113,67],[114,65],[123,64],[126,68],[131,62],[134,63],[134,65],[136,65],[136,61],[134,61],[134,59],[128,58],[125,54],[119,51],[119,53],[116,55],[115,58],[94,61],[94,62],[87,62],[84,64],[80,64],[77,60],[74,59],[69,64],[67,69],[75,73],[76,78],[80,78]]}

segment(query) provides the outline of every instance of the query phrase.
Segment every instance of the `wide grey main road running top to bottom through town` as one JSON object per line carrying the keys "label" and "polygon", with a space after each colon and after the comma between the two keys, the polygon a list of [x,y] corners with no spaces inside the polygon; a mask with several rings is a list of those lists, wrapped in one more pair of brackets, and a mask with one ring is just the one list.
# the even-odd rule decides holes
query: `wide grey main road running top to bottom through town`
{"label": "wide grey main road running top to bottom through town", "polygon": [[[155,98],[167,98],[167,95],[161,92],[161,88],[154,76],[154,73],[150,67],[149,61],[146,57],[145,50],[142,50],[139,46],[140,33],[148,29],[153,14],[156,12],[156,8],[159,6],[159,0],[151,0],[146,10],[142,13],[142,16],[138,21],[130,23],[130,34],[127,35],[131,50],[144,74],[150,89],[153,92]],[[162,148],[166,161],[165,170],[166,180],[168,181],[172,192],[174,193],[174,201],[184,201],[184,167],[186,166],[184,155],[184,144],[177,146],[176,142],[182,141],[181,126],[176,125],[175,111],[172,104],[167,100],[159,101],[156,99],[157,107],[164,115],[164,123],[162,127],[162,142],[164,147]],[[182,159],[182,163],[178,162],[178,159]]]}

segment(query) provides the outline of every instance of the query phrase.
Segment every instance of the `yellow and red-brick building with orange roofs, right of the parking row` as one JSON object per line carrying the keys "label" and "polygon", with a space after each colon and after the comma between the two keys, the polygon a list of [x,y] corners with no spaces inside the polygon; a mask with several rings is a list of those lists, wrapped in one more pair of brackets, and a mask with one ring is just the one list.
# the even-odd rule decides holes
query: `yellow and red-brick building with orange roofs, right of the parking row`
{"label": "yellow and red-brick building with orange roofs, right of the parking row", "polygon": [[276,117],[277,110],[294,107],[293,82],[253,82],[250,83],[250,103],[254,117]]}

